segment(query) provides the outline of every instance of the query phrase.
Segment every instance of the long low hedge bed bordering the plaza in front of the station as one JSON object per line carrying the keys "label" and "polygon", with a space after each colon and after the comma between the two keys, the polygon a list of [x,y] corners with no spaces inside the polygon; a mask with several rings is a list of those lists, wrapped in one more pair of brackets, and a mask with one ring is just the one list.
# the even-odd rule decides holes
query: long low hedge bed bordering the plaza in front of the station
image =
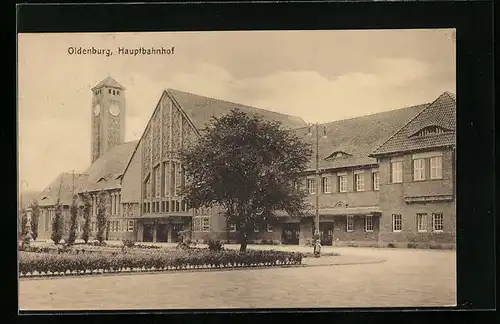
{"label": "long low hedge bed bordering the plaza in front of the station", "polygon": [[20,252],[19,274],[26,276],[103,272],[168,271],[298,265],[302,254],[281,251],[174,250],[119,254],[50,254]]}

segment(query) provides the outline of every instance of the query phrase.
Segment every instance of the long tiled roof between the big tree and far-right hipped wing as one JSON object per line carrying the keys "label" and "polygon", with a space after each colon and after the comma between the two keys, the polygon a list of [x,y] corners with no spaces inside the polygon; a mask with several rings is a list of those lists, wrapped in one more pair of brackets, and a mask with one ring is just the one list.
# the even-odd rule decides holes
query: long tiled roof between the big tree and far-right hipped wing
{"label": "long tiled roof between the big tree and far-right hipped wing", "polygon": [[[376,164],[376,159],[369,157],[369,154],[426,106],[427,104],[422,104],[318,125],[319,168],[337,169]],[[311,144],[313,154],[309,170],[314,170],[316,127],[313,125],[295,131]],[[338,153],[340,156],[337,157]]]}

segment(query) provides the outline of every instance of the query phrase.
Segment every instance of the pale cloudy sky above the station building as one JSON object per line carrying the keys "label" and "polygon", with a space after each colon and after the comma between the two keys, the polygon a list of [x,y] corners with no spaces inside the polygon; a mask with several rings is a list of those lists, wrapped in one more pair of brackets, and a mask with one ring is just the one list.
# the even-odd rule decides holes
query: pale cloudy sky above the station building
{"label": "pale cloudy sky above the station building", "polygon": [[[455,93],[453,30],[61,33],[18,35],[21,190],[43,190],[90,165],[91,88],[125,88],[125,140],[139,139],[163,89],[173,88],[330,122]],[[174,48],[171,55],[118,48]],[[105,48],[70,55],[69,47]]]}

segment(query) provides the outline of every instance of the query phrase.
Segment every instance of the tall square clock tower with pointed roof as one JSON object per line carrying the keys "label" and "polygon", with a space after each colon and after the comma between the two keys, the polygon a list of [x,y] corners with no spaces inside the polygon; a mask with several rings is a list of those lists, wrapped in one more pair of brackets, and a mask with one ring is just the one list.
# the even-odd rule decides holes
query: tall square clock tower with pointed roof
{"label": "tall square clock tower with pointed roof", "polygon": [[92,88],[92,163],[125,141],[125,88],[112,77]]}

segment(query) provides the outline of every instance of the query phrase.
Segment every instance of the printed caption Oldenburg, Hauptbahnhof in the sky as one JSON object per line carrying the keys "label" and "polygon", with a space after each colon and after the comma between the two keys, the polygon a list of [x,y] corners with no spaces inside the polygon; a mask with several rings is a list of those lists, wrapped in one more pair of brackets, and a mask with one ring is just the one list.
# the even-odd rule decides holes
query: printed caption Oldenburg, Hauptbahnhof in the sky
{"label": "printed caption Oldenburg, Hauptbahnhof in the sky", "polygon": [[[175,47],[118,47],[116,53],[118,55],[173,55],[175,52]],[[68,47],[69,55],[103,55],[112,56],[113,51],[109,48],[96,48],[92,47]]]}

